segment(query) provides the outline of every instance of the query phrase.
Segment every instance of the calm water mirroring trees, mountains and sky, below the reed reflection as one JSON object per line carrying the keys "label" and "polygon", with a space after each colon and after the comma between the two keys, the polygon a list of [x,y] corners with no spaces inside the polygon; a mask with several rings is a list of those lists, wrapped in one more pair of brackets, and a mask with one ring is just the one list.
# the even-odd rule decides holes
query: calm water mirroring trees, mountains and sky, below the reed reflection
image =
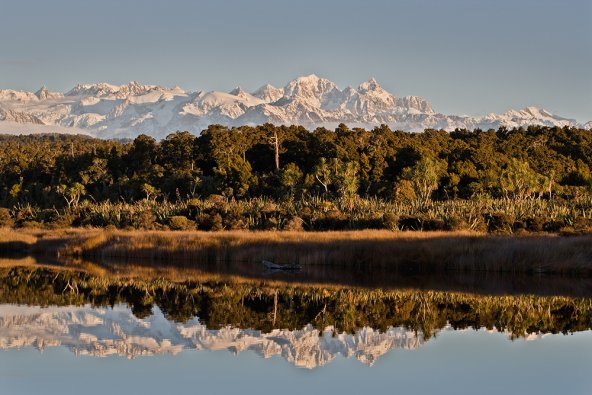
{"label": "calm water mirroring trees, mountains and sky, below the reed reflection", "polygon": [[591,322],[579,292],[3,269],[0,393],[590,394]]}

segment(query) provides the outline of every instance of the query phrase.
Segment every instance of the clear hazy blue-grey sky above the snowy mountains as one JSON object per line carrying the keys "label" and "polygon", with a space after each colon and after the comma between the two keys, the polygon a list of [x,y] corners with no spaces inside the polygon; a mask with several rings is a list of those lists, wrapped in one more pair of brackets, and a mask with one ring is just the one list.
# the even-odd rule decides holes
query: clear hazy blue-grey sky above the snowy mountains
{"label": "clear hazy blue-grey sky above the snowy mountains", "polygon": [[592,120],[592,1],[0,0],[0,88],[369,77],[436,111]]}

